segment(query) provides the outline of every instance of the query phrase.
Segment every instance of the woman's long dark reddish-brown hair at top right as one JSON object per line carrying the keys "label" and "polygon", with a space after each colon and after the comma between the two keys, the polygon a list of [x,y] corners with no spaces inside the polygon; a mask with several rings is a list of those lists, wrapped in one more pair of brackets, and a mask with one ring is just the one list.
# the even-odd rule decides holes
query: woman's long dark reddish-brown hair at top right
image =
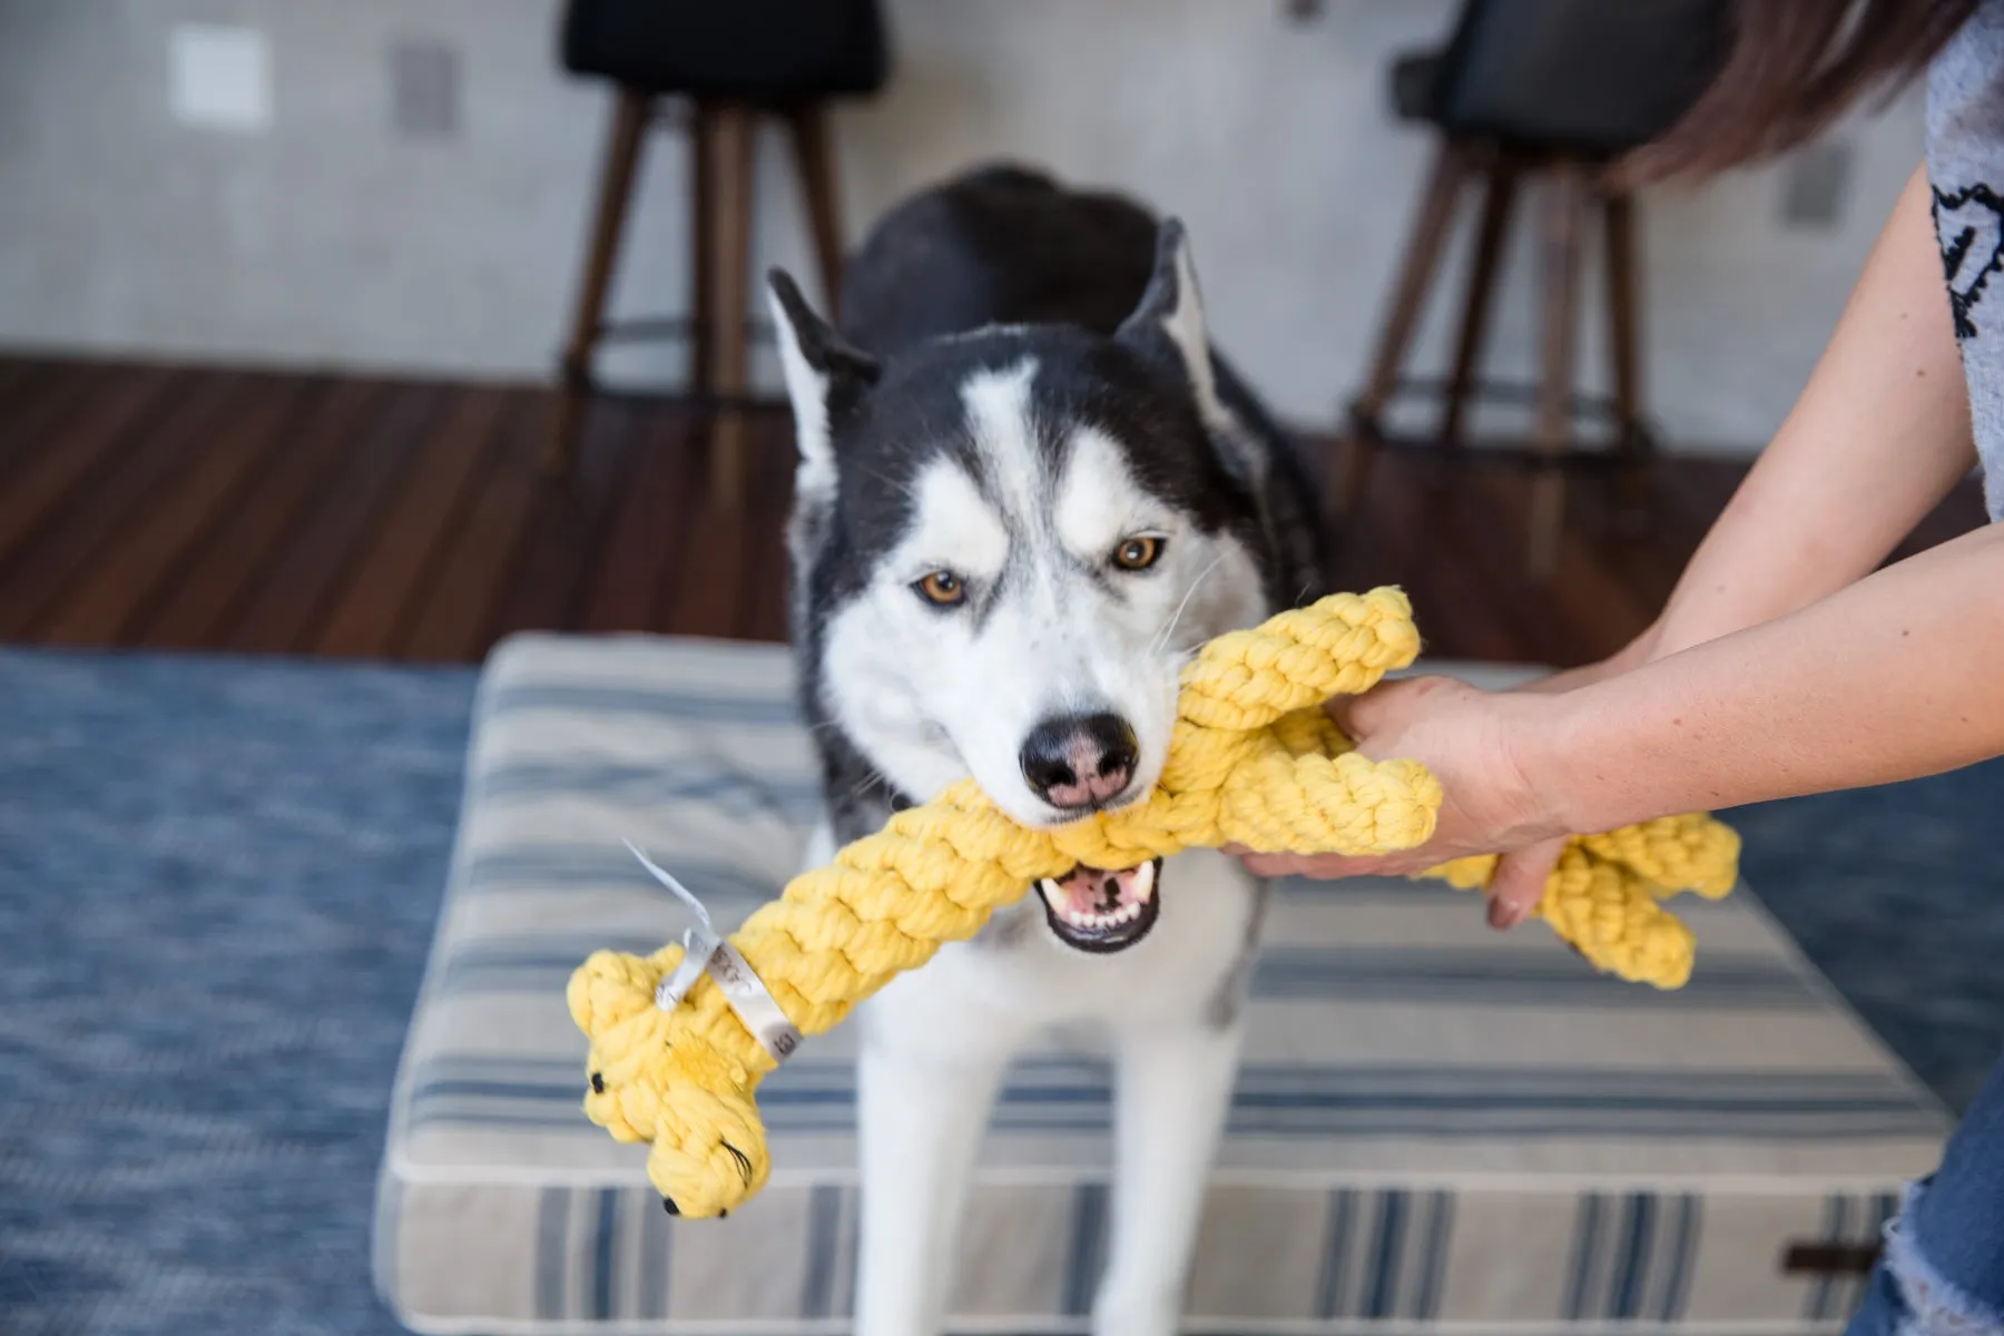
{"label": "woman's long dark reddish-brown hair at top right", "polygon": [[1733,0],[1733,44],[1711,86],[1615,170],[1635,184],[1711,176],[1794,148],[1856,102],[1896,94],[1974,8],[1976,0]]}

